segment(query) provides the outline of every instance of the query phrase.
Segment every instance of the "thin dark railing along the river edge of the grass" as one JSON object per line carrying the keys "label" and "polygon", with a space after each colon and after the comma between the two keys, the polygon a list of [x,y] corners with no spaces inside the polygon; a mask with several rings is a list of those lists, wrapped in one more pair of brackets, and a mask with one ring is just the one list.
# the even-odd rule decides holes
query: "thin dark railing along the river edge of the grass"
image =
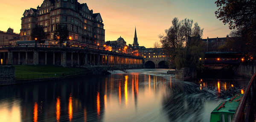
{"label": "thin dark railing along the river edge of the grass", "polygon": [[72,76],[72,75],[86,74],[87,72],[89,72],[89,70],[71,71],[71,72],[53,73],[53,74],[20,74],[20,75],[15,75],[15,79],[22,80],[22,79],[66,77],[66,76]]}

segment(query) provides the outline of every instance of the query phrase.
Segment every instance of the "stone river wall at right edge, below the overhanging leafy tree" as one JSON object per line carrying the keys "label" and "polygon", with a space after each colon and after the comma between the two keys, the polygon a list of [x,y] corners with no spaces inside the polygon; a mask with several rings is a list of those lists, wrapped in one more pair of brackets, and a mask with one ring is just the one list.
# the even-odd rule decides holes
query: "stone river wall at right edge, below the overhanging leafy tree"
{"label": "stone river wall at right edge, below the overhanging leafy tree", "polygon": [[255,65],[239,65],[239,67],[234,71],[237,76],[251,78],[253,74],[256,73]]}

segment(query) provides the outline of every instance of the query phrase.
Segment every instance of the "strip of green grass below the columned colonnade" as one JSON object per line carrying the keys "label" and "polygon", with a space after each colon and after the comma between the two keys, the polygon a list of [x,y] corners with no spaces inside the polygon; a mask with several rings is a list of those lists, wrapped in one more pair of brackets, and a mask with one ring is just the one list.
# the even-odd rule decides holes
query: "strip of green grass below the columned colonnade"
{"label": "strip of green grass below the columned colonnade", "polygon": [[[71,71],[87,70],[87,68],[61,67],[51,65],[13,65],[15,67],[15,75],[25,74],[53,74]],[[89,71],[88,71],[89,72]]]}

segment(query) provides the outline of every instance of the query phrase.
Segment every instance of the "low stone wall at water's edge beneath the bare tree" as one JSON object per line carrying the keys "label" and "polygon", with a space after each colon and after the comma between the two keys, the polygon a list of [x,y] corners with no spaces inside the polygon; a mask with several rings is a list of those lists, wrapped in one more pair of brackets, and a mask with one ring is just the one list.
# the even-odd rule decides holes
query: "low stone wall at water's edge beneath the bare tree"
{"label": "low stone wall at water's edge beneath the bare tree", "polygon": [[175,78],[180,80],[195,79],[196,68],[181,68],[176,70]]}

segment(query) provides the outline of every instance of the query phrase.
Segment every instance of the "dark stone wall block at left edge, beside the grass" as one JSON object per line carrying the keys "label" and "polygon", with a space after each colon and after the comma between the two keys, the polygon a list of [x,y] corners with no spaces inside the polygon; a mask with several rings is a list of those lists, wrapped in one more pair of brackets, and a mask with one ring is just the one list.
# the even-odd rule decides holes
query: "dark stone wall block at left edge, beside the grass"
{"label": "dark stone wall block at left edge, beside the grass", "polygon": [[0,85],[15,83],[15,68],[11,65],[0,66]]}

